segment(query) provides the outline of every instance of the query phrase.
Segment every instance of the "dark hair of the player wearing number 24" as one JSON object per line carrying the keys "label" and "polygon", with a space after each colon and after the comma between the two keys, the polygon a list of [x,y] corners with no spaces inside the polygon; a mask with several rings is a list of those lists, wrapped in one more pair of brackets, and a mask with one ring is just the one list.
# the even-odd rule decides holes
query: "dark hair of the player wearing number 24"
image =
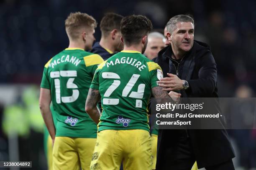
{"label": "dark hair of the player wearing number 24", "polygon": [[121,34],[124,44],[138,44],[144,35],[153,29],[151,21],[143,15],[130,15],[121,21]]}

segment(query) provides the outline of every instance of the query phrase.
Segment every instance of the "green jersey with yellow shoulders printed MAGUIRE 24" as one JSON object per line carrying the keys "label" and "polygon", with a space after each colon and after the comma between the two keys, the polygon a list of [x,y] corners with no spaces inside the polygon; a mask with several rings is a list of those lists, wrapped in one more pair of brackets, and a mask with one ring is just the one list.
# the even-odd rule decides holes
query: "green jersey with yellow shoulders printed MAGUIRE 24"
{"label": "green jersey with yellow shoulders printed MAGUIRE 24", "polygon": [[100,64],[90,86],[101,95],[98,131],[149,131],[148,100],[161,77],[161,67],[138,51],[121,51]]}

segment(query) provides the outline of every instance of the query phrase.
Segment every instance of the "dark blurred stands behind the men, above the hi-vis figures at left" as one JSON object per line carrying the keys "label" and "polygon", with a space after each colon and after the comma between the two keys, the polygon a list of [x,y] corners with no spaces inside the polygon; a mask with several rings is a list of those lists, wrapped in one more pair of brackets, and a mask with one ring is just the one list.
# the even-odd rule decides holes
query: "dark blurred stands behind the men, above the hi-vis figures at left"
{"label": "dark blurred stands behind the men, above the hi-vis figures at left", "polygon": [[[155,30],[163,30],[169,18],[183,13],[195,18],[195,39],[211,46],[218,65],[220,96],[231,97],[239,84],[255,90],[255,7],[253,0],[131,0],[125,4],[109,0],[108,5],[100,0],[2,1],[0,82],[39,84],[43,65],[68,45],[63,23],[70,12],[86,12],[98,23],[109,11],[124,16],[143,14],[152,20]],[[99,27],[95,37],[100,39]]]}

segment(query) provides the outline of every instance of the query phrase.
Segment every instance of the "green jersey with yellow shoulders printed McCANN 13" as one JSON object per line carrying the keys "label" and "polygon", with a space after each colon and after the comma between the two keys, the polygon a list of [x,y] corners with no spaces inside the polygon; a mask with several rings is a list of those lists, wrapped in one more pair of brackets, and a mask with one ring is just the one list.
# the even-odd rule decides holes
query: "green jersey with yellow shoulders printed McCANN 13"
{"label": "green jersey with yellow shoulders printed McCANN 13", "polygon": [[85,112],[85,100],[100,55],[67,48],[44,67],[41,87],[51,90],[56,136],[96,138],[97,125]]}

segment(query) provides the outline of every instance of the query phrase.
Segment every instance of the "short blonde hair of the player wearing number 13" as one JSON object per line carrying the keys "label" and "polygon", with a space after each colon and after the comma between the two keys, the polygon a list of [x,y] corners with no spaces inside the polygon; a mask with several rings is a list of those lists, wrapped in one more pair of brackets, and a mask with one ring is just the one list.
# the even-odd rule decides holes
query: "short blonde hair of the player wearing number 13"
{"label": "short blonde hair of the player wearing number 13", "polygon": [[86,14],[86,13],[70,13],[67,19],[65,20],[65,28],[67,35],[72,39],[75,40],[79,37],[79,30],[82,27],[88,27],[88,28],[96,28],[97,22],[96,20]]}

